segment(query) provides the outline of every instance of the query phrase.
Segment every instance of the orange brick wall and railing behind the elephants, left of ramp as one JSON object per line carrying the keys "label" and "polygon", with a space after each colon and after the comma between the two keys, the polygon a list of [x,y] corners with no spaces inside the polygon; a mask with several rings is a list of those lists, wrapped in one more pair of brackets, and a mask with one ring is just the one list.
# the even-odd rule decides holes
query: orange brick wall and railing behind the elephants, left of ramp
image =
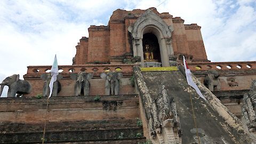
{"label": "orange brick wall and railing behind the elephants, left of ramp", "polygon": [[[121,64],[121,65],[73,65],[73,66],[59,66],[59,69],[63,69],[63,78],[59,80],[61,84],[61,91],[58,96],[73,96],[75,80],[70,78],[69,69],[73,69],[74,73],[81,72],[81,69],[86,69],[85,72],[93,73],[93,79],[90,79],[90,93],[89,95],[105,95],[105,79],[100,78],[100,74],[106,72],[104,69],[109,68],[111,71],[115,71],[116,68],[121,68],[123,77],[120,80],[119,94],[134,94],[134,87],[132,87],[129,78],[132,76],[132,66],[135,64]],[[51,66],[29,66],[28,74],[23,76],[26,81],[29,81],[32,85],[32,92],[24,94],[24,97],[35,97],[37,94],[43,93],[44,82],[40,78],[42,74],[45,74],[46,69],[50,69]],[[34,69],[38,69],[38,72],[34,72]],[[98,69],[93,71],[93,69]]]}

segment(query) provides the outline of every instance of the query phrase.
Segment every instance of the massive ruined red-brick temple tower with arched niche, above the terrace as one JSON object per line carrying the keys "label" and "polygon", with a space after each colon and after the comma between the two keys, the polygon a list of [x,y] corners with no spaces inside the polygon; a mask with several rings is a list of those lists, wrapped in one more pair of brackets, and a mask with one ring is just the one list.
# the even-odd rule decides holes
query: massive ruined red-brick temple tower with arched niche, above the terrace
{"label": "massive ruined red-brick temple tower with arched niche, above the terrace", "polygon": [[[82,37],[76,46],[76,65],[95,61],[123,63],[126,55],[145,59],[146,45],[154,60],[163,67],[170,66],[169,56],[185,55],[193,62],[206,62],[201,27],[185,25],[180,17],[148,10],[116,10],[108,26],[91,26],[89,38]],[[142,62],[143,65],[143,62]]]}

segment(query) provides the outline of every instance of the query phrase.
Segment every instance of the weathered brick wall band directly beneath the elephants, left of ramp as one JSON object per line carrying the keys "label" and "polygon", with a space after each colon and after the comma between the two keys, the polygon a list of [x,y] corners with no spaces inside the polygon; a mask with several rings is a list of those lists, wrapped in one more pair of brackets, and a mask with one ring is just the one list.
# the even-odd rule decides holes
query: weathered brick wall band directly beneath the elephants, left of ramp
{"label": "weathered brick wall band directly beneath the elephants, left of ramp", "polygon": [[[88,121],[101,119],[134,119],[139,117],[135,95],[91,97],[52,97],[47,121]],[[0,122],[42,123],[45,120],[46,98],[1,98]]]}

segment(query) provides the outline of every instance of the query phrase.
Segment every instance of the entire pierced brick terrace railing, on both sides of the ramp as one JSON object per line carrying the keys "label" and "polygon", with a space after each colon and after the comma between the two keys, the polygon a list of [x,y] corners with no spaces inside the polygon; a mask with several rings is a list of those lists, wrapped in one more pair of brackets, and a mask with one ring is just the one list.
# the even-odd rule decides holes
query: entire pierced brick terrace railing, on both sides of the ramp
{"label": "entire pierced brick terrace railing, on both sides of the ramp", "polygon": [[[59,73],[103,73],[106,71],[121,71],[132,73],[132,67],[139,64],[107,64],[107,65],[65,65],[59,66]],[[188,63],[190,70],[236,70],[236,69],[256,69],[256,61],[241,62],[193,62]],[[49,73],[51,66],[28,66],[27,74]]]}

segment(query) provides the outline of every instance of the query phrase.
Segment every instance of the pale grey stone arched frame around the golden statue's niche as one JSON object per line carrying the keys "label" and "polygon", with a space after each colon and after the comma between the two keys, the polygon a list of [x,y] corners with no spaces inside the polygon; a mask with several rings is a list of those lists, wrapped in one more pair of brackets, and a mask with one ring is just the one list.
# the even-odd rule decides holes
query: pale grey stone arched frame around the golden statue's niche
{"label": "pale grey stone arched frame around the golden statue's niche", "polygon": [[172,26],[168,27],[164,20],[151,10],[148,10],[135,21],[134,26],[129,26],[128,30],[132,36],[133,55],[141,57],[142,67],[144,67],[142,39],[143,35],[147,33],[154,34],[158,39],[162,66],[170,66],[169,55],[173,54],[171,45]]}

